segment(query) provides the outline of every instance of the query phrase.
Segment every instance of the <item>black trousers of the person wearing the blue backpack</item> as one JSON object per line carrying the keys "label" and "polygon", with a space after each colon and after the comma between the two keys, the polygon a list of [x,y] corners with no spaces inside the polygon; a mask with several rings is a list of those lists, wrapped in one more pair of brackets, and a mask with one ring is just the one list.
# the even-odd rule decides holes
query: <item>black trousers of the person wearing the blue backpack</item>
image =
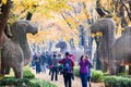
{"label": "black trousers of the person wearing the blue backpack", "polygon": [[63,73],[63,80],[66,87],[72,87],[71,77],[72,77],[72,73]]}

